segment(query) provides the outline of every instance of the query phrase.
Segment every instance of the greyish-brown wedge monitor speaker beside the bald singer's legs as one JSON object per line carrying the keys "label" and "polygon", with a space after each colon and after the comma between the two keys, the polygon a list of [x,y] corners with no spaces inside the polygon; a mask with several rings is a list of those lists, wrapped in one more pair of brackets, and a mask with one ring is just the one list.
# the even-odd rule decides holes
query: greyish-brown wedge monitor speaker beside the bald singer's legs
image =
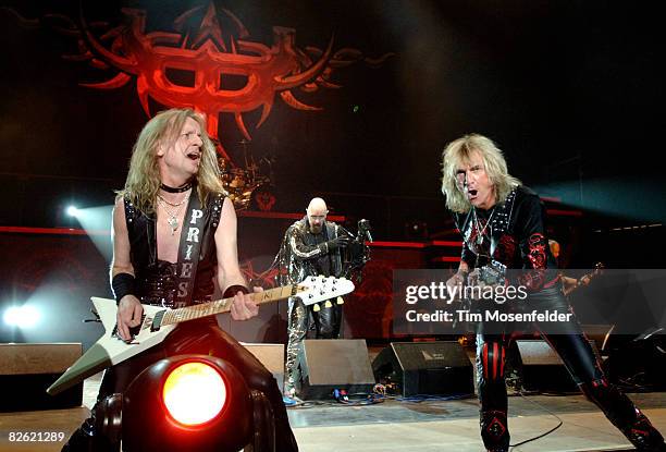
{"label": "greyish-brown wedge monitor speaker beside the bald singer's legs", "polygon": [[301,399],[330,399],[334,389],[371,393],[374,387],[363,339],[306,339],[298,366]]}

